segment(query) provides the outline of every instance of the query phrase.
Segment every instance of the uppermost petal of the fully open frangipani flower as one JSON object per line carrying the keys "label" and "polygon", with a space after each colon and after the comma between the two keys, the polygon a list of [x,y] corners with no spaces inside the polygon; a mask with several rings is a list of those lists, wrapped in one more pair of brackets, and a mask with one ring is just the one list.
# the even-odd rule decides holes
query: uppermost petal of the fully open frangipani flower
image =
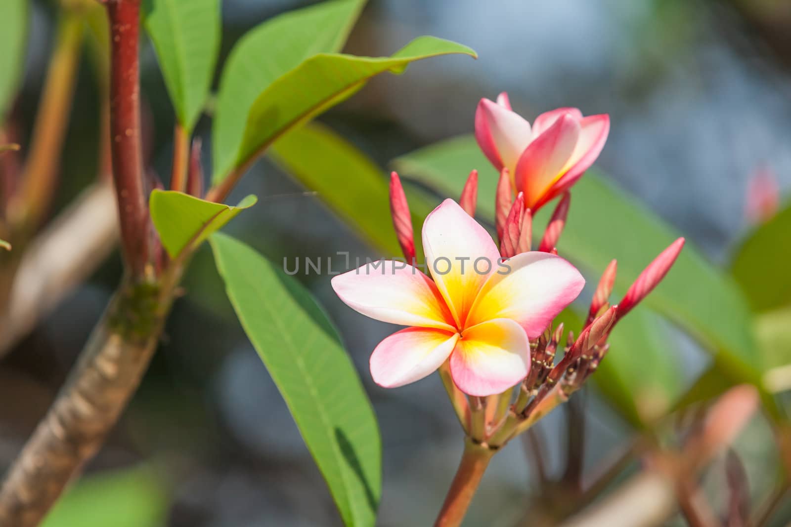
{"label": "uppermost petal of the fully open frangipani flower", "polygon": [[486,278],[498,269],[494,240],[456,201],[446,199],[426,216],[423,250],[453,319],[463,322]]}

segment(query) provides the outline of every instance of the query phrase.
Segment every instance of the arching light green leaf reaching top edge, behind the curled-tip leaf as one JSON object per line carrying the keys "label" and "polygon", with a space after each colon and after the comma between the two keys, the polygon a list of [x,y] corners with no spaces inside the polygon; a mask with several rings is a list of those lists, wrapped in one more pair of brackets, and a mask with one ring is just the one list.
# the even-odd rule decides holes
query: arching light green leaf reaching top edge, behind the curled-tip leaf
{"label": "arching light green leaf reaching top edge, behind the curled-tip leaf", "polygon": [[340,51],[363,6],[365,0],[334,0],[290,11],[252,29],[233,47],[212,130],[214,179],[233,165],[259,93],[306,58]]}

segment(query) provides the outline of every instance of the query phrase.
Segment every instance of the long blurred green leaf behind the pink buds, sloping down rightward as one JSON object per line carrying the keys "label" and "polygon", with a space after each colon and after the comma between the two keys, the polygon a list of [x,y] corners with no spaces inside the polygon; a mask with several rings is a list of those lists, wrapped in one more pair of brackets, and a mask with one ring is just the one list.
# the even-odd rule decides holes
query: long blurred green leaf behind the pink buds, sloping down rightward
{"label": "long blurred green leaf behind the pink buds, sloping down rightward", "polygon": [[[479,169],[479,214],[494,218],[497,174],[473,137],[456,137],[395,160],[405,174],[445,194],[458,195],[471,168]],[[558,250],[587,269],[604,269],[618,259],[616,289],[624,292],[643,267],[667,247],[676,233],[652,213],[615,190],[590,170],[574,186],[572,206]],[[534,222],[536,235],[551,213]],[[645,299],[718,354],[732,378],[759,381],[751,312],[739,288],[687,244],[668,277]],[[650,375],[649,371],[645,375]]]}

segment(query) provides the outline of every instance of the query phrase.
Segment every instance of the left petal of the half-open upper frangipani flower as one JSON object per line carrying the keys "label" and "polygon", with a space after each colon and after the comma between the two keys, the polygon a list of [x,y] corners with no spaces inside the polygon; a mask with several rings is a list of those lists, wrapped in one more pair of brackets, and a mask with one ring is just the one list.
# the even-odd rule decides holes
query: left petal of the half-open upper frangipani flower
{"label": "left petal of the half-open upper frangipani flower", "polygon": [[513,174],[519,156],[532,141],[530,123],[513,111],[482,99],[475,111],[475,139],[498,170]]}

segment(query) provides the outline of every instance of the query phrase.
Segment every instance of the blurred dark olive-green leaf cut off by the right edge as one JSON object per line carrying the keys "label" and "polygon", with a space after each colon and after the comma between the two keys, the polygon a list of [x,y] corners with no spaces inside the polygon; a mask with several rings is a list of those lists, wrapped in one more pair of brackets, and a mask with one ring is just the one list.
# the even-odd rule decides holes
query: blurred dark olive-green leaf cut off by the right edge
{"label": "blurred dark olive-green leaf cut off by the right edge", "polygon": [[755,228],[736,250],[731,271],[756,311],[791,305],[791,206]]}

